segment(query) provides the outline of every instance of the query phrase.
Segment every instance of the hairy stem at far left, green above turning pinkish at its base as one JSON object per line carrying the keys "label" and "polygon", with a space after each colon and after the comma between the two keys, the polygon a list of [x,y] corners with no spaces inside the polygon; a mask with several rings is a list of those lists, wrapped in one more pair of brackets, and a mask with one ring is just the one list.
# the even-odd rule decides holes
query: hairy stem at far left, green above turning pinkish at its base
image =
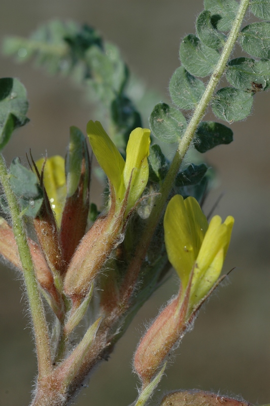
{"label": "hairy stem at far left, green above turning pinkish at its base", "polygon": [[52,370],[51,350],[49,341],[48,325],[45,318],[45,311],[40,295],[40,289],[37,283],[35,269],[27,244],[27,237],[24,229],[24,223],[20,215],[17,198],[11,189],[9,182],[10,175],[5,164],[3,155],[0,154],[0,180],[8,201],[12,223],[13,233],[18,245],[18,251],[23,269],[23,275],[29,300],[30,311],[35,332],[39,379],[49,374]]}

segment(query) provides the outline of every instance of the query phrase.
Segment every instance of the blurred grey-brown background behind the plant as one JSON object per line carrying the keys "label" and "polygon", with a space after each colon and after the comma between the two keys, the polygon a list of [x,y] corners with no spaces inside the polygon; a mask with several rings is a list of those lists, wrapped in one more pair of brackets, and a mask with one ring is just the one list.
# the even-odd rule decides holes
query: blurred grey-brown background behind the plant
{"label": "blurred grey-brown background behind the plant", "polygon": [[[168,83],[179,66],[180,40],[195,31],[202,0],[9,0],[1,2],[0,36],[28,36],[52,19],[88,23],[121,50],[130,70],[149,89],[169,99]],[[83,90],[68,79],[48,77],[31,62],[23,65],[1,56],[1,77],[17,77],[30,101],[30,123],[17,130],[5,149],[10,161],[32,149],[38,159],[65,154],[69,127],[85,129],[95,120]],[[242,396],[254,404],[270,402],[270,94],[255,96],[252,115],[231,125],[234,142],[205,155],[217,170],[217,187],[207,198],[208,213],[224,193],[216,213],[235,218],[224,265],[230,274],[200,312],[195,328],[175,352],[159,397],[167,390],[197,388]],[[211,115],[208,116],[211,118]],[[148,126],[148,123],[144,123]],[[24,158],[23,158],[24,159]],[[102,189],[94,180],[92,193]],[[0,272],[0,405],[27,406],[36,374],[31,326],[18,274]],[[127,406],[139,382],[131,359],[145,325],[177,289],[174,274],[142,308],[109,362],[91,376],[79,406]],[[158,396],[155,400],[158,401]]]}

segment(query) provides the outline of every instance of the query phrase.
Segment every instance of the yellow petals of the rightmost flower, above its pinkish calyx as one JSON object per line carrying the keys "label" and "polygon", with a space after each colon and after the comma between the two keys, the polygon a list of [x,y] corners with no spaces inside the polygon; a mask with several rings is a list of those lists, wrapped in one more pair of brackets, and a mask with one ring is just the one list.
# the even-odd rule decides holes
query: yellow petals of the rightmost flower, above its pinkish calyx
{"label": "yellow petals of the rightmost flower, above its pinkish calyx", "polygon": [[224,223],[214,216],[208,225],[194,197],[176,195],[164,216],[165,245],[168,259],[182,283],[182,294],[193,271],[190,308],[194,307],[218,280],[229,247],[234,219]]}

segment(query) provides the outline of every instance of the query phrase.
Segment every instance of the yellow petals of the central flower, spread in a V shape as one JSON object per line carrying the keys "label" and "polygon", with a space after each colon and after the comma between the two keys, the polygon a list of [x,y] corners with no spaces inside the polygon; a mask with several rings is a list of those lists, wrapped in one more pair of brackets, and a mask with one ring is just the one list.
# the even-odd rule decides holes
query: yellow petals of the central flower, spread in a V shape
{"label": "yellow petals of the central flower, spread in a V shape", "polygon": [[111,198],[115,201],[116,211],[121,209],[123,200],[127,197],[125,213],[128,213],[143,193],[148,181],[150,130],[136,128],[130,133],[126,161],[99,121],[90,120],[86,131],[93,153],[109,179]]}

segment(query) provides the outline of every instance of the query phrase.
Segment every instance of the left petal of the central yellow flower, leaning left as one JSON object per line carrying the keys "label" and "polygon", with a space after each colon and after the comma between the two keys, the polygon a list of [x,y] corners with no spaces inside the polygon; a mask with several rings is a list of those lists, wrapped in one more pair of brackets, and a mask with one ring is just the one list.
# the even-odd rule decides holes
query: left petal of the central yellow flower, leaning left
{"label": "left petal of the central yellow flower, leaning left", "polygon": [[86,131],[99,165],[110,180],[116,198],[121,199],[123,196],[120,196],[119,193],[125,165],[123,157],[99,121],[90,120],[87,123]]}

